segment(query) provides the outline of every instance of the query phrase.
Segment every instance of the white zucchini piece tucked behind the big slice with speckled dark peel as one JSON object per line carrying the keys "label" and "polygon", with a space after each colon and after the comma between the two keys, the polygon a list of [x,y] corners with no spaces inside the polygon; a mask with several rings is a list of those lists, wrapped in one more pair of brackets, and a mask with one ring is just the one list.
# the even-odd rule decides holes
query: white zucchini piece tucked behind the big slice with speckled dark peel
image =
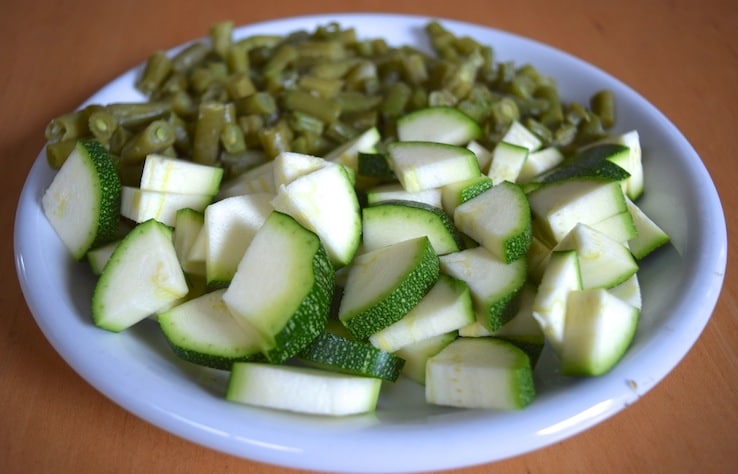
{"label": "white zucchini piece tucked behind the big slice with speckled dark peel", "polygon": [[205,276],[208,283],[229,282],[256,231],[274,210],[272,195],[244,194],[205,208]]}

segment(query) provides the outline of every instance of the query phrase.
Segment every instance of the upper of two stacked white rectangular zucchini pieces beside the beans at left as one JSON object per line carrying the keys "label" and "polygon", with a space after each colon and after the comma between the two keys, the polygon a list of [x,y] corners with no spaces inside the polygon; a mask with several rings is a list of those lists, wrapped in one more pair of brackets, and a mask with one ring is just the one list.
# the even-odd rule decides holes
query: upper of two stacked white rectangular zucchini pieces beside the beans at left
{"label": "upper of two stacked white rectangular zucchini pieces beside the beans at left", "polygon": [[214,196],[222,177],[223,168],[151,154],[144,161],[139,187],[147,191]]}

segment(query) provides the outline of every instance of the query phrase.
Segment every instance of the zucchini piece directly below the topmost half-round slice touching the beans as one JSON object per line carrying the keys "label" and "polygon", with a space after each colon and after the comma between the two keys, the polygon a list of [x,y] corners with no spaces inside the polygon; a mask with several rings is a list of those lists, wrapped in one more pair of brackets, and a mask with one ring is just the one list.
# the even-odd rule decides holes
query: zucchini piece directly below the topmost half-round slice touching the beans
{"label": "zucchini piece directly below the topmost half-round slice touching the beans", "polygon": [[397,179],[410,192],[438,188],[481,174],[479,162],[467,148],[437,142],[393,142],[387,158]]}

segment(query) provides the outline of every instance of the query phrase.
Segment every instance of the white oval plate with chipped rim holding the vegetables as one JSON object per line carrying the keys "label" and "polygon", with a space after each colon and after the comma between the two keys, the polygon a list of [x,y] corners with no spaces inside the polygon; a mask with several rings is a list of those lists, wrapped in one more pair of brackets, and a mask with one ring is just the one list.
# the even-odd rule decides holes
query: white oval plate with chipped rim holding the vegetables
{"label": "white oval plate with chipped rim holding the vegetables", "polygon": [[[240,28],[239,36],[312,30],[338,21],[361,36],[427,47],[427,18],[367,14],[290,18]],[[90,322],[94,280],[68,257],[44,218],[40,199],[53,172],[39,154],[16,216],[18,278],[49,342],[91,385],[150,423],[235,456],[283,466],[339,471],[438,470],[499,460],[572,436],[634,403],[687,353],[707,323],[726,265],[725,221],[714,185],[687,140],[636,92],[604,72],[540,43],[487,27],[443,21],[457,34],[493,45],[497,60],[529,62],[553,76],[562,97],[587,103],[610,88],[618,127],[637,129],[646,173],[644,210],[673,237],[641,272],[644,309],[633,346],[609,374],[562,378],[544,353],[538,398],[520,412],[428,406],[409,381],[386,384],[375,414],[318,418],[223,400],[223,373],[177,360],[145,321],[122,334]],[[122,75],[88,102],[140,99]],[[51,390],[51,388],[50,388]]]}

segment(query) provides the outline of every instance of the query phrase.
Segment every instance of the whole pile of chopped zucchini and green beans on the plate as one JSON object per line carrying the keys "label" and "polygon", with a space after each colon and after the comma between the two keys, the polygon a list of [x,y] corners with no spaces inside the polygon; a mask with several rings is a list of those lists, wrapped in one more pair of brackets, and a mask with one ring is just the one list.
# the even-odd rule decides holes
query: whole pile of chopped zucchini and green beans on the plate
{"label": "whole pile of chopped zucchini and green beans on the plate", "polygon": [[99,275],[92,320],[153,317],[174,353],[230,371],[228,400],[323,415],[382,383],[520,409],[549,344],[608,372],[669,242],[637,205],[615,98],[562,101],[531,65],[431,21],[434,54],[337,24],[155,52],[148,100],[54,118],[42,206]]}

